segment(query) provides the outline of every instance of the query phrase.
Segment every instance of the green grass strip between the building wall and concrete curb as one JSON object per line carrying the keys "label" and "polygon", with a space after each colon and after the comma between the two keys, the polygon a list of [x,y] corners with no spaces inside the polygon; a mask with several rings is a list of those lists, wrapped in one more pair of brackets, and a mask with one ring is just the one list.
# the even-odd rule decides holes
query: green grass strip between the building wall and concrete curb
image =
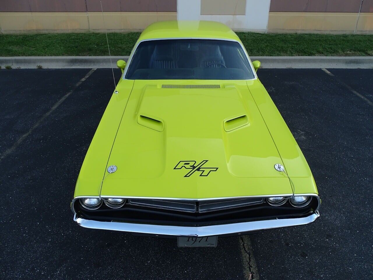
{"label": "green grass strip between the building wall and concrete curb", "polygon": [[[238,32],[250,56],[373,56],[373,35]],[[109,33],[110,52],[129,55],[140,33]],[[104,33],[4,34],[0,56],[106,56]]]}

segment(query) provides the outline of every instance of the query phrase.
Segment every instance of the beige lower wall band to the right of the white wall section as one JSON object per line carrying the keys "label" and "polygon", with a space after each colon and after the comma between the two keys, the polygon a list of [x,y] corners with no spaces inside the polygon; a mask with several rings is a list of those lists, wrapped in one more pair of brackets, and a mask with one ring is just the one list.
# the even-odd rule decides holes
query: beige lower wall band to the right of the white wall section
{"label": "beige lower wall band to the right of the white wall section", "polygon": [[367,34],[373,13],[269,12],[267,32]]}

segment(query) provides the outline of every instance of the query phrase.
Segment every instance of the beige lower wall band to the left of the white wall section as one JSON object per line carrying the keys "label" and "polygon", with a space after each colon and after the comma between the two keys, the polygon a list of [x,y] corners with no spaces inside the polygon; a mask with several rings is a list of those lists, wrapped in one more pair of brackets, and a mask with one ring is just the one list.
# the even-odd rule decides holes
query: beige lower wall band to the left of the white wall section
{"label": "beige lower wall band to the left of the white wall section", "polygon": [[[175,20],[176,12],[104,12],[110,32],[142,31],[156,21]],[[104,32],[101,12],[0,12],[1,34]]]}

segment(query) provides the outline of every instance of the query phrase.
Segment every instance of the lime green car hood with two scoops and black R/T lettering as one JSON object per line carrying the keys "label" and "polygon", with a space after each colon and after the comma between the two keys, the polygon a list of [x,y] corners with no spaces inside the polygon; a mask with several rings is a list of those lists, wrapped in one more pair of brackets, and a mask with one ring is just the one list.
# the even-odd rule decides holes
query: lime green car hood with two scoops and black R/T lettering
{"label": "lime green car hood with two scoops and black R/T lettering", "polygon": [[[210,81],[211,83],[211,81]],[[289,194],[245,81],[135,81],[101,196],[204,199]]]}

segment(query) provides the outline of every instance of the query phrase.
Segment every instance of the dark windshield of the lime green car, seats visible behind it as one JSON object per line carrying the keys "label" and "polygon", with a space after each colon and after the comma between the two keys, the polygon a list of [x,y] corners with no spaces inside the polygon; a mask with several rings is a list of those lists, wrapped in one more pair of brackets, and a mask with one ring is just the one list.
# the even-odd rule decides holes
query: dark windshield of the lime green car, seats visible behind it
{"label": "dark windshield of the lime green car, seats visible behind it", "polygon": [[205,39],[141,42],[128,67],[131,80],[250,80],[254,78],[241,45]]}

